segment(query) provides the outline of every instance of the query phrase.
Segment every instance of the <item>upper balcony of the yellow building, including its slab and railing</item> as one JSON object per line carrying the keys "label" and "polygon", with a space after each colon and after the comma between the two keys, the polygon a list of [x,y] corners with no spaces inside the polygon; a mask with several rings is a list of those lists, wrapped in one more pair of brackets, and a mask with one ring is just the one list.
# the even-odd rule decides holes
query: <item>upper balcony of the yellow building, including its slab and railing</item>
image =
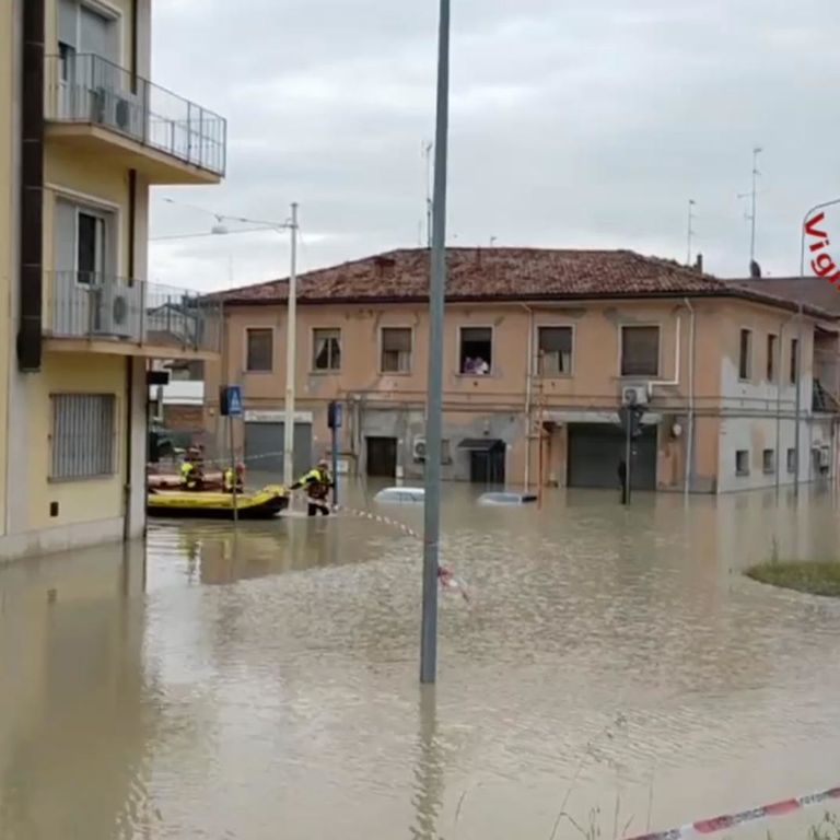
{"label": "upper balcony of the yellow building, including its slab and railing", "polygon": [[218,184],[225,120],[95,55],[48,56],[47,137],[110,156],[152,184]]}

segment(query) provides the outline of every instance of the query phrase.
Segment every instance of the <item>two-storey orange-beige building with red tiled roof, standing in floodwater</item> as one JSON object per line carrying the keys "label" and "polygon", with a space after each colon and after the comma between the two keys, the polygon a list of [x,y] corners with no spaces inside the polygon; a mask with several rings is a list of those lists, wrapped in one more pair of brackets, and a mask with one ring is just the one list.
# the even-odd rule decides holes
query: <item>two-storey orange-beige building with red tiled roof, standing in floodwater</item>
{"label": "two-storey orange-beige building with red tiled roof, standing in floodwater", "polygon": [[[723,492],[828,478],[837,463],[835,316],[630,252],[453,248],[444,342],[444,477],[611,487],[619,407],[645,407],[634,486]],[[345,405],[350,471],[419,478],[424,460],[428,252],[397,250],[300,280],[296,469]],[[250,469],[282,468],[285,281],[224,295],[220,384],[241,384]],[[831,368],[829,370],[829,368]],[[798,385],[798,411],[797,411]],[[826,399],[816,400],[815,393]]]}

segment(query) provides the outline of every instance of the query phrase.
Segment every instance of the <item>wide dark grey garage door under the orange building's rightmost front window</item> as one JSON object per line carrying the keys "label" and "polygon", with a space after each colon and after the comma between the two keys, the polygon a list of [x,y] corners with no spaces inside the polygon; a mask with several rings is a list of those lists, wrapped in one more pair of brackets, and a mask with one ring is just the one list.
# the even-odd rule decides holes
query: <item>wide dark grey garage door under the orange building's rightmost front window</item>
{"label": "wide dark grey garage door under the orange building's rightmost front window", "polygon": [[[607,423],[569,425],[569,487],[617,490],[618,465],[625,457],[625,433]],[[630,483],[634,490],[656,489],[656,427],[649,425],[633,441]]]}

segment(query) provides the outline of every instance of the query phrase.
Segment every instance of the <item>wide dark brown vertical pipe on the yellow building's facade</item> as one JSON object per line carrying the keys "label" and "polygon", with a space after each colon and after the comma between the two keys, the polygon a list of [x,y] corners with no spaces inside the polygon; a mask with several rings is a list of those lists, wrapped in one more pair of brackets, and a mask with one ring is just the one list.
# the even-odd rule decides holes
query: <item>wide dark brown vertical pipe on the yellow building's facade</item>
{"label": "wide dark brown vertical pipe on the yellow building's facade", "polygon": [[42,366],[44,305],[44,33],[46,3],[23,3],[23,90],[21,91],[21,256],[18,370]]}

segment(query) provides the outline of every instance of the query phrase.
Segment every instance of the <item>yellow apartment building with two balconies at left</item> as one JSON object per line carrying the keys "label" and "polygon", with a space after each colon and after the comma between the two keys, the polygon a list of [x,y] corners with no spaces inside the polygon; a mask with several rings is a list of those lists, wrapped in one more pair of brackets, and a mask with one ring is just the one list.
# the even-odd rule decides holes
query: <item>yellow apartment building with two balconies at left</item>
{"label": "yellow apartment building with two balconies at left", "polygon": [[140,536],[147,369],[218,360],[219,305],[149,283],[147,242],[225,122],[150,63],[151,0],[0,5],[0,559]]}

